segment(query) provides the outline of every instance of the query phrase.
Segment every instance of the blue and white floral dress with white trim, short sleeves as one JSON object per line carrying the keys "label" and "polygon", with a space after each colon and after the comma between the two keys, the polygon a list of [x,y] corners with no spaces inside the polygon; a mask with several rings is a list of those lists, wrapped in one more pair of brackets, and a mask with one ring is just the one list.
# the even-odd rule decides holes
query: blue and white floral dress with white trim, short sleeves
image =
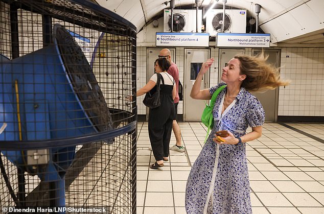
{"label": "blue and white floral dress with white trim, short sleeves", "polygon": [[[211,87],[210,93],[224,84]],[[245,143],[219,145],[212,139],[216,131],[228,130],[237,137],[244,135],[248,126],[262,126],[265,112],[258,99],[241,88],[221,114],[225,93],[226,88],[218,94],[213,110],[214,128],[188,177],[188,214],[252,213]]]}

